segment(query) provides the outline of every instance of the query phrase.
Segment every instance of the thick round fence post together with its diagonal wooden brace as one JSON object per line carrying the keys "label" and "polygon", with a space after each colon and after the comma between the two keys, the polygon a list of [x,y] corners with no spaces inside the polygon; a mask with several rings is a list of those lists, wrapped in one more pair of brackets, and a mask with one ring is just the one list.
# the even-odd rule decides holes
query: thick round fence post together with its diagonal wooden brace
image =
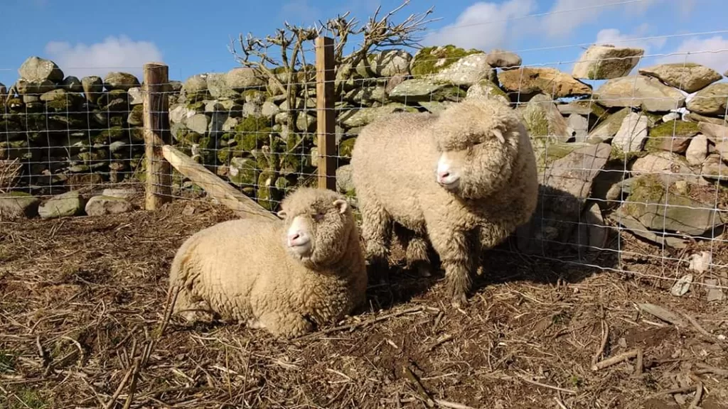
{"label": "thick round fence post together with its diagonal wooden brace", "polygon": [[172,169],[180,172],[204,189],[210,197],[229,207],[240,218],[266,218],[278,220],[270,213],[237,191],[225,180],[201,164],[194,162],[170,143],[167,65],[144,65],[144,140],[146,143],[146,210],[156,210],[168,202],[172,195]]}

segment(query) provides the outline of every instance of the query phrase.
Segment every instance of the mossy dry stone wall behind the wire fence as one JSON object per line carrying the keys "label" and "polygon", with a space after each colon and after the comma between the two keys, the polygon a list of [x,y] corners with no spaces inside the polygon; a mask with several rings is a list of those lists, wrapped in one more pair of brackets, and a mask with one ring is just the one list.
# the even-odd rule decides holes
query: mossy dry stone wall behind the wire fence
{"label": "mossy dry stone wall behind the wire fence", "polygon": [[[355,201],[348,158],[361,127],[393,112],[437,113],[486,95],[521,114],[537,151],[543,197],[518,233],[523,250],[545,251],[550,242],[605,247],[609,225],[678,248],[710,237],[728,221],[728,83],[695,63],[634,72],[643,54],[592,46],[567,73],[521,66],[521,57],[502,49],[446,46],[414,55],[390,50],[342,67],[337,187]],[[10,90],[0,87],[0,160],[25,161],[26,183],[41,189],[134,175],[143,155],[138,79],[79,80],[38,57],[18,72]],[[295,74],[293,107],[272,79],[250,68],[173,82],[174,143],[274,209],[286,188],[315,180],[313,72]],[[287,82],[285,73],[274,74]],[[590,80],[605,82],[595,90]]]}

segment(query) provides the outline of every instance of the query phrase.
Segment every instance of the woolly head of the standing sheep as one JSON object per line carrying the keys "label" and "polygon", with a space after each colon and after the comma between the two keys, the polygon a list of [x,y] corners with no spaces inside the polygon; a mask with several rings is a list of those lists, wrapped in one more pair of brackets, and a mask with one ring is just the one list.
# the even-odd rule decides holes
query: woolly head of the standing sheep
{"label": "woolly head of the standing sheep", "polygon": [[464,199],[487,197],[506,187],[522,132],[512,117],[496,121],[488,118],[493,112],[478,108],[459,108],[435,126],[440,155],[433,178]]}

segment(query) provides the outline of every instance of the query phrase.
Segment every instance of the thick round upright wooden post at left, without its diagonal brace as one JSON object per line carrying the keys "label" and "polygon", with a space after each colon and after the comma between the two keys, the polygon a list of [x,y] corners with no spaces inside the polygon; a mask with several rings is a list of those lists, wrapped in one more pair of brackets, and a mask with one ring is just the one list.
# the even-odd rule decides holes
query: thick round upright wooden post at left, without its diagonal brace
{"label": "thick round upright wooden post at left, without its diagonal brace", "polygon": [[169,68],[144,64],[143,121],[146,160],[146,210],[157,210],[172,196],[172,167],[162,155],[170,143]]}

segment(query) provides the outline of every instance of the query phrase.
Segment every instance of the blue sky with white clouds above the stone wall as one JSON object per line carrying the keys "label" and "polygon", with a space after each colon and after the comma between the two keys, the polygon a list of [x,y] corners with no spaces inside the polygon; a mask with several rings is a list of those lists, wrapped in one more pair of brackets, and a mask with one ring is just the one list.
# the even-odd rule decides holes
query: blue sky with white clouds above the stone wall
{"label": "blue sky with white clouds above the stone wall", "polygon": [[[365,21],[378,4],[400,0],[3,0],[0,82],[17,79],[25,58],[54,60],[66,75],[139,74],[161,60],[170,78],[238,66],[230,38],[274,33],[284,20],[312,24],[347,10]],[[348,4],[348,5],[347,5]],[[412,0],[395,18],[434,6],[440,18],[423,33],[424,45],[456,44],[488,51],[510,49],[524,65],[570,71],[596,41],[643,47],[639,66],[687,60],[728,70],[724,0]],[[703,33],[703,34],[700,34]],[[722,50],[722,51],[721,51]],[[683,54],[679,54],[683,53]]]}

